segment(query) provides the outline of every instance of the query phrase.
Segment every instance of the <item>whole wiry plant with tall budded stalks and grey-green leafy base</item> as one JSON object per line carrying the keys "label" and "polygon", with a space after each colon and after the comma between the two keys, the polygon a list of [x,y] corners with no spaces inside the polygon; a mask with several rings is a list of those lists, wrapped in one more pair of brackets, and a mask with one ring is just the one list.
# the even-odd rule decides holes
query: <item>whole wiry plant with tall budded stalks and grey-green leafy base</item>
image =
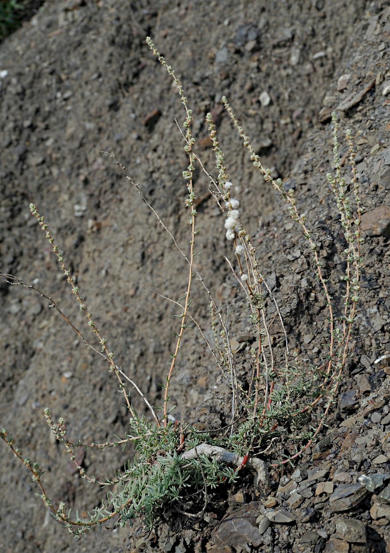
{"label": "whole wiry plant with tall budded stalks and grey-green leafy base", "polygon": [[[109,363],[109,371],[118,378],[120,391],[127,403],[129,411],[129,431],[123,439],[114,442],[104,442],[103,444],[81,444],[81,442],[72,443],[66,434],[65,421],[60,419],[54,422],[51,419],[50,409],[45,409],[46,421],[57,440],[65,445],[70,458],[76,462],[75,450],[77,447],[112,447],[124,446],[131,442],[135,448],[135,456],[129,460],[122,472],[115,474],[115,478],[99,481],[93,476],[87,476],[82,466],[77,466],[82,478],[92,484],[104,488],[113,487],[115,491],[109,489],[107,498],[102,504],[89,514],[89,519],[82,519],[76,512],[75,517],[67,511],[66,505],[60,503],[55,506],[49,495],[46,493],[41,481],[42,471],[40,467],[24,458],[22,452],[14,445],[14,440],[9,436],[5,429],[0,431],[0,437],[12,449],[14,455],[29,469],[34,481],[38,483],[41,491],[41,498],[45,505],[51,509],[57,520],[64,523],[73,534],[80,535],[85,530],[94,525],[101,525],[113,520],[114,526],[123,525],[127,521],[135,518],[141,518],[145,528],[150,529],[156,526],[161,520],[171,520],[172,515],[180,513],[181,515],[196,516],[201,515],[207,506],[210,493],[220,484],[229,484],[239,478],[240,469],[244,467],[245,462],[250,456],[261,454],[262,450],[268,450],[273,442],[278,440],[289,440],[290,442],[299,442],[296,452],[290,456],[276,458],[274,465],[280,465],[291,462],[305,451],[313,443],[319,434],[326,416],[334,404],[336,392],[340,382],[342,369],[345,366],[347,356],[349,355],[349,346],[351,340],[352,325],[356,315],[356,302],[359,298],[359,278],[361,269],[360,244],[362,241],[360,233],[360,197],[359,184],[356,178],[355,152],[353,139],[350,132],[347,132],[347,143],[350,150],[350,165],[352,169],[352,188],[353,197],[347,195],[347,186],[345,179],[341,176],[339,163],[339,143],[338,143],[338,124],[334,118],[334,148],[335,148],[335,167],[336,174],[328,175],[328,181],[335,195],[335,203],[341,216],[341,225],[344,229],[346,239],[346,250],[344,252],[346,260],[346,292],[344,296],[344,311],[336,316],[334,305],[329,295],[327,280],[324,275],[323,262],[320,258],[319,248],[313,241],[310,229],[307,227],[305,216],[299,215],[296,199],[292,190],[285,191],[280,179],[273,180],[270,170],[263,168],[261,160],[255,154],[251,147],[249,137],[244,133],[238,120],[236,119],[228,101],[223,98],[224,105],[228,111],[234,127],[237,129],[240,138],[243,140],[244,147],[250,154],[250,159],[255,168],[260,172],[262,180],[271,184],[280,195],[282,204],[286,204],[288,212],[293,221],[301,227],[303,236],[308,242],[313,256],[313,267],[317,273],[320,285],[322,286],[324,296],[324,309],[328,312],[329,320],[329,344],[323,353],[322,361],[318,366],[307,366],[299,361],[297,354],[289,352],[288,337],[284,329],[281,312],[277,301],[270,288],[267,285],[266,278],[261,273],[259,261],[256,258],[256,250],[252,244],[251,237],[247,233],[242,217],[238,210],[240,202],[231,195],[233,184],[229,181],[228,170],[225,165],[224,155],[220,149],[217,140],[217,131],[212,121],[212,116],[207,115],[206,121],[209,128],[210,137],[213,141],[213,148],[216,157],[216,168],[218,177],[214,177],[205,169],[202,160],[194,152],[196,144],[191,133],[192,111],[187,107],[187,98],[184,96],[183,88],[170,66],[168,66],[156,50],[150,39],[147,40],[152,52],[158,57],[163,66],[166,67],[168,74],[173,78],[180,97],[185,107],[186,119],[183,122],[182,132],[185,141],[185,152],[188,155],[188,166],[183,171],[183,178],[186,180],[188,188],[188,197],[186,208],[189,209],[191,219],[191,241],[188,253],[180,252],[189,266],[189,277],[186,295],[181,302],[175,301],[181,309],[180,331],[175,332],[177,339],[175,352],[172,354],[170,369],[166,378],[164,404],[162,406],[162,416],[157,416],[155,406],[152,406],[138,385],[127,375],[122,368],[118,367],[113,361],[113,353],[108,349],[107,340],[101,336],[99,329],[94,324],[92,314],[88,312],[80,289],[75,286],[75,279],[67,269],[64,257],[51,236],[49,227],[40,216],[38,209],[34,204],[30,205],[30,210],[35,216],[45,232],[46,239],[52,246],[64,272],[68,283],[71,286],[72,294],[75,295],[80,310],[85,314],[88,327],[92,331],[95,340],[93,345],[85,340],[80,331],[72,326],[77,335],[86,343],[87,346],[94,349]],[[114,160],[114,156],[110,154]],[[116,160],[115,160],[116,161]],[[118,163],[118,162],[117,162]],[[234,246],[236,268],[230,262],[230,267],[235,274],[238,283],[244,291],[243,309],[249,306],[249,321],[254,325],[256,333],[256,346],[252,349],[252,368],[251,374],[247,375],[245,391],[238,381],[236,371],[236,360],[233,355],[229,340],[229,331],[221,315],[215,300],[212,298],[207,285],[205,285],[201,275],[197,272],[194,265],[194,243],[196,242],[197,211],[196,211],[196,191],[193,186],[194,165],[199,163],[201,169],[207,174],[210,185],[213,186],[213,195],[217,198],[219,206],[225,215],[226,239]],[[120,165],[118,163],[118,165]],[[123,168],[122,165],[120,167]],[[127,179],[131,184],[130,176]],[[143,201],[146,199],[141,195]],[[352,217],[351,202],[355,201],[357,217]],[[149,204],[148,204],[149,205]],[[152,211],[156,214],[152,206]],[[156,214],[160,223],[167,230],[175,247],[178,248],[175,238]],[[180,249],[180,248],[179,248]],[[34,288],[23,283],[13,275],[0,275],[10,284],[19,284],[28,288]],[[209,297],[210,314],[212,316],[212,331],[214,335],[214,346],[205,338],[205,334],[196,321],[191,317],[189,306],[191,305],[192,279],[197,278],[203,285],[205,292]],[[35,288],[34,288],[35,289]],[[36,290],[36,289],[35,289]],[[39,290],[37,290],[39,291]],[[44,293],[41,295],[47,298]],[[49,299],[49,298],[48,298]],[[267,301],[265,301],[267,300]],[[51,305],[60,313],[61,311],[50,298]],[[271,305],[271,312],[267,312]],[[63,315],[61,313],[61,315]],[[63,315],[64,316],[64,315]],[[67,317],[65,320],[69,323]],[[189,319],[194,326],[198,328],[201,335],[206,340],[210,352],[222,371],[223,377],[231,388],[232,409],[231,420],[225,429],[219,429],[216,432],[199,432],[191,425],[182,427],[180,421],[171,418],[168,388],[171,378],[176,372],[176,359],[180,355],[181,338],[188,327]],[[278,319],[282,333],[284,334],[284,344],[282,352],[273,351],[271,327],[275,319]],[[284,349],[283,349],[284,348]],[[278,363],[276,362],[278,359]],[[284,359],[284,364],[280,360]],[[141,418],[135,412],[133,405],[129,400],[129,395],[125,389],[125,383],[130,383],[136,392],[144,400],[152,421]],[[235,452],[243,461],[238,466],[229,466],[225,462],[220,462],[215,455],[198,455],[197,446],[208,445],[223,448],[228,452]],[[201,449],[201,448],[199,448]],[[195,450],[195,454],[189,458],[183,452]],[[238,458],[238,457],[236,457]],[[249,463],[250,464],[250,463]],[[76,463],[77,465],[77,463]]]}

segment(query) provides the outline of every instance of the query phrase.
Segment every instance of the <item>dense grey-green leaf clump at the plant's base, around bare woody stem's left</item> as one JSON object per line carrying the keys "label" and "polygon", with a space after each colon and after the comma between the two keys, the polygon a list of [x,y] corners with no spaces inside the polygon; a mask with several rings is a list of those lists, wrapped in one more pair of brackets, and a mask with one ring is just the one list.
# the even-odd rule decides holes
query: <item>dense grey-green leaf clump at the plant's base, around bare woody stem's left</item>
{"label": "dense grey-green leaf clump at the plant's base, around bare woody stem's left", "polygon": [[[46,413],[50,415],[48,411]],[[201,504],[205,487],[212,490],[221,482],[233,482],[238,477],[235,468],[221,466],[215,458],[199,455],[196,459],[182,460],[181,430],[175,422],[157,427],[145,419],[133,417],[129,427],[126,437],[134,440],[133,460],[125,465],[123,471],[115,474],[114,479],[98,481],[88,477],[90,482],[99,486],[115,486],[115,492],[108,491],[107,499],[89,514],[89,520],[77,516],[72,520],[71,512],[65,513],[65,505],[56,514],[57,519],[67,523],[72,533],[80,535],[99,521],[109,520],[113,510],[118,513],[114,527],[142,517],[145,529],[151,529],[160,520],[169,520],[173,513]],[[66,444],[72,457],[72,447],[66,440],[65,432],[54,431],[59,440]],[[214,443],[209,434],[193,428],[186,429],[185,440],[187,449],[204,441]],[[215,442],[221,443],[220,440]],[[81,475],[85,477],[82,470]]]}

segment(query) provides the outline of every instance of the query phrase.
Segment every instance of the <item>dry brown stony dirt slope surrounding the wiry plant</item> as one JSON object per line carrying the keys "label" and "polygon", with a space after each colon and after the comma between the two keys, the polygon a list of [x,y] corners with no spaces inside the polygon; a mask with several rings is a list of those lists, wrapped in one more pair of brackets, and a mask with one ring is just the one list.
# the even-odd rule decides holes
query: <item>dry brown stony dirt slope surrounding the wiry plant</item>
{"label": "dry brown stony dirt slope surrounding the wiry plant", "polygon": [[[307,481],[310,467],[328,463],[316,485],[329,482],[334,491],[355,485],[364,471],[390,474],[389,377],[373,364],[390,352],[388,211],[381,216],[381,228],[373,211],[390,206],[387,2],[44,2],[0,45],[0,269],[35,284],[82,327],[50,247],[29,214],[29,203],[35,202],[77,275],[88,309],[115,350],[117,363],[133,375],[153,404],[161,403],[177,309],[150,290],[178,300],[186,289],[187,269],[122,171],[99,153],[115,153],[186,247],[188,213],[183,208],[186,188],[181,171],[187,159],[175,124],[175,118],[183,120],[183,109],[172,80],[145,44],[147,35],[185,86],[198,151],[211,171],[213,152],[204,116],[208,111],[218,116],[220,142],[257,244],[261,270],[273,280],[284,306],[292,348],[309,361],[319,355],[326,328],[303,238],[276,192],[252,168],[229,117],[220,112],[220,100],[228,96],[263,165],[296,188],[299,208],[322,243],[335,295],[344,269],[338,216],[325,179],[333,156],[330,112],[336,109],[341,128],[353,130],[362,204],[368,215],[372,213],[358,324],[339,401],[329,418],[333,441],[317,453],[307,450],[297,466],[305,474],[300,481]],[[221,304],[230,302],[231,337],[244,344],[240,350],[245,359],[250,345],[237,338],[250,333],[251,326],[245,299],[224,260],[224,255],[233,257],[224,239],[224,220],[213,199],[206,197],[208,181],[200,171],[196,185],[198,197],[204,196],[198,207],[198,268]],[[200,289],[197,293],[192,314],[206,326],[207,298]],[[128,422],[117,384],[104,362],[75,339],[48,301],[2,282],[0,302],[0,426],[7,427],[25,455],[45,469],[53,500],[65,499],[83,513],[98,503],[101,491],[75,474],[42,411],[47,405],[55,419],[64,416],[75,440],[112,439],[123,435]],[[175,416],[218,427],[219,413],[228,401],[217,386],[218,378],[202,341],[196,332],[188,332],[171,388]],[[133,399],[143,412],[141,401]],[[370,411],[367,401],[375,406]],[[384,507],[380,504],[382,511],[375,510],[376,496],[370,492],[338,512],[329,508],[325,492],[318,507],[317,488],[312,495],[298,494],[303,503],[287,505],[290,511],[296,507],[296,520],[272,524],[259,542],[234,541],[223,533],[218,542],[224,513],[245,510],[257,499],[250,475],[231,493],[221,492],[208,517],[188,524],[182,533],[169,535],[162,528],[160,534],[145,538],[134,526],[92,531],[75,541],[35,497],[37,489],[25,468],[4,444],[0,447],[0,549],[7,553],[180,553],[212,551],[213,543],[225,551],[389,550],[386,502]],[[279,444],[270,458],[281,453]],[[83,466],[97,477],[113,476],[128,455],[119,448],[88,450]],[[287,481],[294,469],[271,474],[272,497],[280,478]],[[346,476],[337,478],[340,473]],[[382,487],[386,482],[384,478]],[[273,501],[282,505],[288,495],[278,498],[268,498],[268,507],[275,506]],[[256,512],[261,509],[257,505]],[[349,523],[359,520],[365,538],[354,542],[351,526],[343,534],[340,517]]]}

